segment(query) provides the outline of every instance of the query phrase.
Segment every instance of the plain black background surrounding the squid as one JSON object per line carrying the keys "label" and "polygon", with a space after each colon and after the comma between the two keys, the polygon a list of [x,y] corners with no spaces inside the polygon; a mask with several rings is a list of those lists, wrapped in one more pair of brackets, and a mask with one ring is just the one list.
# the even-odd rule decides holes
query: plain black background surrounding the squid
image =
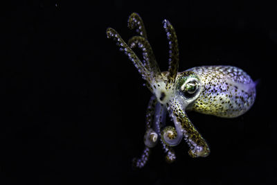
{"label": "plain black background surrounding the squid", "polygon": [[[179,2],[179,1],[178,1]],[[1,16],[0,184],[276,184],[276,3],[269,1],[19,1]],[[226,119],[189,112],[211,155],[182,142],[166,164],[161,147],[141,170],[151,96],[111,40],[127,41],[138,12],[162,71],[179,39],[179,71],[233,65],[260,79],[253,107]]]}

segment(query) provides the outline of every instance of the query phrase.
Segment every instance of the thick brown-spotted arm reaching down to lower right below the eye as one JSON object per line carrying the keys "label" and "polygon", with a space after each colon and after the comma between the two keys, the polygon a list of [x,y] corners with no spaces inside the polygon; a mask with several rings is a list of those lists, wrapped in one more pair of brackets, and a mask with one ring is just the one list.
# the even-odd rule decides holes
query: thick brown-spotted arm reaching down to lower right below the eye
{"label": "thick brown-spotted arm reaching down to lower right below the eye", "polygon": [[175,125],[180,125],[181,132],[184,133],[184,139],[190,150],[188,154],[191,157],[206,157],[210,153],[208,144],[205,139],[199,134],[193,123],[191,123],[186,112],[184,111],[184,106],[179,103],[178,100],[173,98],[170,101],[170,114],[175,122]]}

